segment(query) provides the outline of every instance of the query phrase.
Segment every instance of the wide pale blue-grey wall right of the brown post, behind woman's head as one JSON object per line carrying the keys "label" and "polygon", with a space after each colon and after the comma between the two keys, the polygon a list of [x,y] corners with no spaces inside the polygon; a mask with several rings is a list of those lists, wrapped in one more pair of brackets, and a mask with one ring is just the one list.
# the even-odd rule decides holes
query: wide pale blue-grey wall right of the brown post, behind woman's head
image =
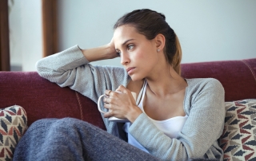
{"label": "wide pale blue-grey wall right of the brown post, behind woman's head", "polygon": [[[123,14],[149,8],[166,15],[181,41],[182,63],[256,57],[254,0],[59,0],[59,50],[108,43]],[[119,65],[119,59],[94,64]]]}

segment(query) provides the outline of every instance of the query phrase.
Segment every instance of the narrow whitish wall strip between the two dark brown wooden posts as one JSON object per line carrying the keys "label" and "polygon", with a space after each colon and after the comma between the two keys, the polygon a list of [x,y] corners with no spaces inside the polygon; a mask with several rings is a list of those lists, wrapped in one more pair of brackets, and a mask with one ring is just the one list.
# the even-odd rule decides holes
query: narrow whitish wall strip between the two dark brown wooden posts
{"label": "narrow whitish wall strip between the two dark brown wooden posts", "polygon": [[42,58],[42,2],[14,0],[9,6],[11,69],[35,71],[36,61]]}

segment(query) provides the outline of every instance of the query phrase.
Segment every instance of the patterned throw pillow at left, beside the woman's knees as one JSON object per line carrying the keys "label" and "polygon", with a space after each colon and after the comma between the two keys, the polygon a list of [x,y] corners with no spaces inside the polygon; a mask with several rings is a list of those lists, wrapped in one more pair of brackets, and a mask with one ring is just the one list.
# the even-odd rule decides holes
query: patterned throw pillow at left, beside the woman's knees
{"label": "patterned throw pillow at left, beside the woman's knees", "polygon": [[11,160],[14,149],[27,129],[24,108],[18,105],[0,108],[0,160]]}

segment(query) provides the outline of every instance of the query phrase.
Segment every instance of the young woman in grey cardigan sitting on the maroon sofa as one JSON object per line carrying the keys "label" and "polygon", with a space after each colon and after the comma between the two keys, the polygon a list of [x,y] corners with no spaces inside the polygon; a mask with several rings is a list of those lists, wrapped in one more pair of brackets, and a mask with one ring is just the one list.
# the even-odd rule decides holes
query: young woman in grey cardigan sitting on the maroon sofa
{"label": "young woman in grey cardigan sitting on the maroon sofa", "polygon": [[[90,65],[115,57],[123,69]],[[164,15],[134,10],[114,25],[109,44],[94,49],[76,45],[38,61],[39,75],[49,81],[94,102],[103,93],[108,96],[108,112],[102,114],[107,132],[71,118],[38,120],[18,143],[14,159],[222,160],[222,84],[182,78],[181,57],[178,37]],[[131,92],[137,93],[138,104]],[[110,116],[130,122],[109,121]]]}

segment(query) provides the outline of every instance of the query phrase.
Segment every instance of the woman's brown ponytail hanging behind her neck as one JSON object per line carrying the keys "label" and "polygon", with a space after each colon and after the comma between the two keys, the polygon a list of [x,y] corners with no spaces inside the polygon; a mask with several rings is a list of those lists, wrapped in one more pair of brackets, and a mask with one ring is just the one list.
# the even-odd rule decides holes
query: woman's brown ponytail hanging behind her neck
{"label": "woman's brown ponytail hanging behind her neck", "polygon": [[181,75],[182,47],[178,41],[178,37],[176,34],[175,34],[175,46],[176,46],[176,52],[174,53],[174,57],[171,65],[173,66],[176,73],[178,73],[178,75]]}

